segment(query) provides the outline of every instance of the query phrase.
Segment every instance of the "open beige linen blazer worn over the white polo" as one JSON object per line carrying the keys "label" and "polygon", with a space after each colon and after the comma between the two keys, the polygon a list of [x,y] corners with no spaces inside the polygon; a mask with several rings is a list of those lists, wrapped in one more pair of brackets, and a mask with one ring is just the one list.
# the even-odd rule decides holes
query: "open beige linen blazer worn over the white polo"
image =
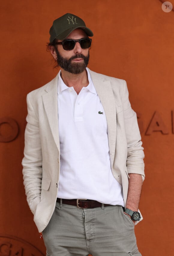
{"label": "open beige linen blazer worn over the white polo", "polygon": [[[108,127],[113,176],[122,184],[124,203],[128,174],[144,180],[144,153],[136,113],[132,110],[126,82],[90,71],[103,105]],[[55,209],[60,171],[58,135],[58,75],[27,95],[27,126],[23,178],[29,207],[39,232],[47,226]]]}

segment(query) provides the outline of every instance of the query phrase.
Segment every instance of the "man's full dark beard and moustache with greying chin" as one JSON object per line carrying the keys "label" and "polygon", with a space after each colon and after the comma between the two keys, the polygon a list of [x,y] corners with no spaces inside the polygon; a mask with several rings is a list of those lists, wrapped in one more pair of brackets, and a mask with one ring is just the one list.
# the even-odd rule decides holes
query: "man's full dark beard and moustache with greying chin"
{"label": "man's full dark beard and moustache with greying chin", "polygon": [[[89,52],[88,52],[88,56],[85,57],[83,54],[76,54],[74,56],[72,56],[70,59],[67,58],[63,58],[60,53],[58,52],[58,50],[56,51],[57,53],[57,64],[64,69],[67,72],[70,72],[72,74],[79,74],[82,73],[89,62]],[[81,63],[71,63],[72,59],[76,59],[76,58],[82,58],[84,60],[84,62]]]}

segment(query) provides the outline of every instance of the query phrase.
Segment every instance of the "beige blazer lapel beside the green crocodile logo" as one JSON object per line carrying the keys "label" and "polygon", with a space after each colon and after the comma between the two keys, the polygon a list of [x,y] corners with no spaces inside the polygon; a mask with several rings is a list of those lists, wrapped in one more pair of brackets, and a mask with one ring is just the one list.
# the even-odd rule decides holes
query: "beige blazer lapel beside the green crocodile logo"
{"label": "beige blazer lapel beside the green crocodile logo", "polygon": [[108,142],[110,149],[110,162],[111,168],[113,168],[114,155],[116,149],[116,104],[113,95],[113,90],[110,81],[103,81],[96,73],[91,72],[90,70],[89,72],[106,115]]}

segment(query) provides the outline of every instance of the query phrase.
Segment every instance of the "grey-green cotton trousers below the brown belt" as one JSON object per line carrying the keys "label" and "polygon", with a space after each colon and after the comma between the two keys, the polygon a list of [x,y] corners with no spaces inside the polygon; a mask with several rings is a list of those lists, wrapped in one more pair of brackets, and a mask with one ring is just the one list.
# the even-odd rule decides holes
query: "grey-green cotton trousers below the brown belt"
{"label": "grey-green cotton trousers below the brown belt", "polygon": [[56,203],[42,234],[47,256],[141,256],[134,223],[122,206],[79,209]]}

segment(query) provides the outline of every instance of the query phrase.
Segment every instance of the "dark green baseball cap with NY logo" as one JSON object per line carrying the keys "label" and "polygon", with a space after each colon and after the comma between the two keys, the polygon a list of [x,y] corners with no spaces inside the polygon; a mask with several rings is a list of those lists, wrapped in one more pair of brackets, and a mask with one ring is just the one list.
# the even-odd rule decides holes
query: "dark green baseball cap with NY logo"
{"label": "dark green baseball cap with NY logo", "polygon": [[93,32],[86,27],[81,18],[67,13],[53,21],[49,30],[49,42],[52,43],[54,39],[64,40],[74,29],[82,29],[88,36],[93,36]]}

